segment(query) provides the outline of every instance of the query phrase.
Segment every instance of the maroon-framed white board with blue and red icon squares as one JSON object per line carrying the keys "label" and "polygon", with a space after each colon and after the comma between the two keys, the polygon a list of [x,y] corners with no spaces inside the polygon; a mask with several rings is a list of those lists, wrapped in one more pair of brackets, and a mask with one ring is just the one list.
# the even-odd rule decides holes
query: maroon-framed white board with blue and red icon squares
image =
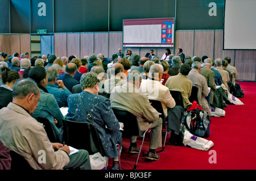
{"label": "maroon-framed white board with blue and red icon squares", "polygon": [[174,18],[123,20],[123,47],[174,47]]}

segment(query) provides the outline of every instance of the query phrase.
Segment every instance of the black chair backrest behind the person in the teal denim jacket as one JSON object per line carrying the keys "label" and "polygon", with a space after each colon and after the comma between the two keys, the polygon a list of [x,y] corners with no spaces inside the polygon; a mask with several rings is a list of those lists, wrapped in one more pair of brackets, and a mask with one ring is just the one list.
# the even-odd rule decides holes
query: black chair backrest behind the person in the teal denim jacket
{"label": "black chair backrest behind the person in the teal denim jacket", "polygon": [[39,123],[43,123],[44,129],[46,130],[49,141],[51,141],[51,142],[60,142],[60,138],[57,137],[57,134],[55,133],[51,123],[49,122],[49,120],[47,118],[35,117],[35,119]]}

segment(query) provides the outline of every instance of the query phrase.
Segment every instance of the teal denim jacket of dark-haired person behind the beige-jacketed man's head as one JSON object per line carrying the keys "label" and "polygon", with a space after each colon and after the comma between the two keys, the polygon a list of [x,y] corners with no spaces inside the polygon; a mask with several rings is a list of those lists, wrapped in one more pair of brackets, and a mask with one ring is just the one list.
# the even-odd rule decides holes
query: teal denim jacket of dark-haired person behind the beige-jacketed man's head
{"label": "teal denim jacket of dark-haired person behind the beige-jacketed man's head", "polygon": [[[53,125],[57,136],[60,137],[60,141],[62,140],[63,133],[63,121],[64,118],[60,108],[56,102],[56,99],[52,94],[44,92],[43,89],[40,89],[40,98],[42,102],[38,104],[38,107],[35,109],[34,113],[31,115],[32,117],[45,117],[50,123]],[[57,124],[54,124],[54,118],[58,121]]]}

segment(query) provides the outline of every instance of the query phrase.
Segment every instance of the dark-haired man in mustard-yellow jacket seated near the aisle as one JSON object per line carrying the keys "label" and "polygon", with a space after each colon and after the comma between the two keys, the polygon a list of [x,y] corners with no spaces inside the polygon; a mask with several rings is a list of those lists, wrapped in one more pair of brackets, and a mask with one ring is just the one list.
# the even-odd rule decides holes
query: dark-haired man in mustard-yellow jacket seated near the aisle
{"label": "dark-haired man in mustard-yellow jacket seated near the aisle", "polygon": [[180,73],[174,76],[171,76],[166,81],[166,87],[170,90],[180,91],[183,97],[184,108],[188,108],[192,105],[189,102],[189,96],[191,95],[192,90],[192,81],[187,78],[191,66],[188,64],[182,64],[180,66]]}

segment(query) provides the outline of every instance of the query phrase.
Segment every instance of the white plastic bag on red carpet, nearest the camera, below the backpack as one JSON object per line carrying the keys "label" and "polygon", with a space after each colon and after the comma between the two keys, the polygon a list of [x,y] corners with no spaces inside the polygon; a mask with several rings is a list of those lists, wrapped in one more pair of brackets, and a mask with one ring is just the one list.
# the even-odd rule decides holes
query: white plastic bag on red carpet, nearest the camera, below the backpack
{"label": "white plastic bag on red carpet, nearest the camera, below the backpack", "polygon": [[183,144],[190,148],[207,151],[214,145],[212,141],[206,140],[205,138],[194,136],[187,130],[184,130]]}

